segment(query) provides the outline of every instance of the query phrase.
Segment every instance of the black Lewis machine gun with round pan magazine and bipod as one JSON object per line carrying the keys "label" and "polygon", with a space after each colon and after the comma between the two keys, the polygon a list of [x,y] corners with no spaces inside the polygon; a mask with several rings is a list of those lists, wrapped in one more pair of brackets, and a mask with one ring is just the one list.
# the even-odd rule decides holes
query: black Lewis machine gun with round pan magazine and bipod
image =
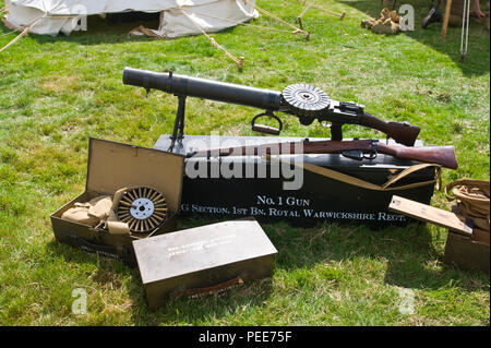
{"label": "black Lewis machine gun with round pan magazine and bipod", "polygon": [[[175,141],[182,140],[184,134],[184,107],[188,96],[263,109],[264,112],[252,119],[252,129],[274,135],[278,135],[283,129],[282,120],[274,111],[295,115],[304,125],[311,124],[314,120],[321,123],[331,122],[333,141],[343,140],[343,124],[360,124],[381,131],[387,137],[406,146],[415,144],[420,131],[419,127],[407,122],[385,122],[366,112],[362,105],[331,99],[323,91],[308,84],[292,84],[283,92],[278,92],[178,75],[172,74],[171,71],[153,72],[132,68],[124,69],[123,83],[144,87],[147,92],[154,88],[171,93],[179,98],[171,148]],[[262,117],[275,119],[278,128],[258,124],[258,119]]]}

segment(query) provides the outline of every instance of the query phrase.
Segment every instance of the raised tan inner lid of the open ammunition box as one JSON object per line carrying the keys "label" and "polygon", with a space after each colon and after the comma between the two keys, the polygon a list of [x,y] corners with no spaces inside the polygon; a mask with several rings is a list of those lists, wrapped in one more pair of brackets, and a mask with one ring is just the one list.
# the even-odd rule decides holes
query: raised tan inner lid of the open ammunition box
{"label": "raised tan inner lid of the open ammunition box", "polygon": [[165,195],[170,213],[179,212],[184,157],[168,152],[91,137],[85,189],[113,194],[147,185]]}

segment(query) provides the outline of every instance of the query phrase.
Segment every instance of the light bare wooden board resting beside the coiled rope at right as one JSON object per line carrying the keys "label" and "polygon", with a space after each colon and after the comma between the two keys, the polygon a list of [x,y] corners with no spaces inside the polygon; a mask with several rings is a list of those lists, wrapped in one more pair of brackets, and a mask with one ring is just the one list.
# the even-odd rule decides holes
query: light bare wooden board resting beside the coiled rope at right
{"label": "light bare wooden board resting beside the coiled rope at right", "polygon": [[464,224],[457,215],[431,205],[393,195],[388,209],[426,223],[448,228],[466,237],[472,236],[472,229]]}

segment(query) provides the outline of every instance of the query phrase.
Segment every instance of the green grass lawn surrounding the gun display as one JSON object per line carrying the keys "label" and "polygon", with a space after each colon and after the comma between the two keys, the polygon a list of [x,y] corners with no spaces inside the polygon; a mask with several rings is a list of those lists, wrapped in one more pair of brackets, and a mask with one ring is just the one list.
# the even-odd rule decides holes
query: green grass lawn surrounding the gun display
{"label": "green grass lawn surrounding the gun display", "polygon": [[[224,297],[178,300],[149,312],[139,272],[55,241],[49,214],[84,191],[88,137],[152,147],[171,132],[177,99],[124,86],[124,67],[209,77],[282,91],[306,82],[335,99],[354,100],[384,120],[420,125],[428,145],[455,145],[459,169],[443,182],[490,179],[489,32],[472,23],[469,53],[459,62],[460,29],[422,31],[429,10],[416,9],[416,31],[396,36],[360,28],[380,1],[316,0],[346,19],[311,10],[302,36],[238,26],[214,34],[242,72],[204,36],[129,38],[132,24],[88,19],[88,32],[29,35],[0,53],[0,324],[2,325],[489,325],[489,276],[444,265],[446,231],[410,225],[300,229],[264,225],[278,249],[271,279]],[[3,1],[0,1],[3,3]],[[302,4],[261,0],[294,23]],[[255,24],[282,27],[261,16]],[[154,27],[157,23],[154,23]],[[283,27],[282,27],[283,28]],[[0,25],[0,47],[15,34]],[[10,33],[10,34],[9,34]],[[258,110],[190,98],[187,132],[253,135]],[[284,116],[285,136],[323,136]],[[346,137],[378,137],[347,127]],[[432,204],[450,207],[442,192]],[[181,220],[180,227],[209,223]],[[72,314],[72,291],[87,292],[87,314]],[[409,291],[410,290],[410,291]],[[399,311],[409,291],[412,314]],[[404,312],[404,311],[403,311]]]}

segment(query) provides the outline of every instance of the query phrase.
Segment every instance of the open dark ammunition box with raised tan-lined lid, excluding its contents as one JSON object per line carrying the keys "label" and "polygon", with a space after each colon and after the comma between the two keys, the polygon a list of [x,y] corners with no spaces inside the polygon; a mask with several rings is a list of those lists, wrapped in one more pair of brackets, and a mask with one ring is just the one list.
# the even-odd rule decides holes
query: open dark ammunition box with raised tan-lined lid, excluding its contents
{"label": "open dark ammunition box with raised tan-lined lid, excluding its contents", "polygon": [[61,215],[76,202],[112,195],[121,188],[147,185],[166,196],[169,209],[169,217],[153,235],[173,231],[181,200],[183,160],[183,156],[163,151],[91,139],[85,191],[50,215],[55,238],[135,265],[132,241],[147,238],[148,233],[111,235],[101,228],[62,219]]}

